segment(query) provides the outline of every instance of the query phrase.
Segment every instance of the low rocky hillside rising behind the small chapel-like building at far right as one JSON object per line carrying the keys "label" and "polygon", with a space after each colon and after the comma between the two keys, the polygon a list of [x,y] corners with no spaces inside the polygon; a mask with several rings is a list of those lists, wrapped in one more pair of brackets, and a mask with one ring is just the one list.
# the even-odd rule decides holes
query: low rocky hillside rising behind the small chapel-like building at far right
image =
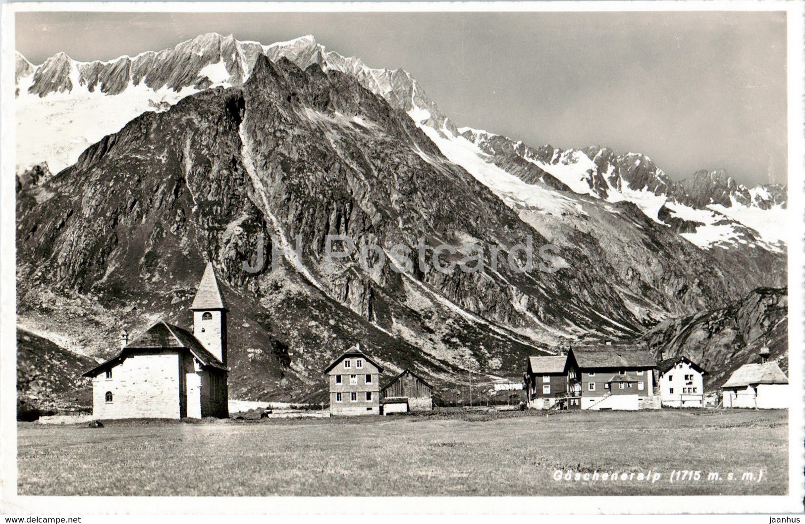
{"label": "low rocky hillside rising behind the small chapel-like building at far right", "polygon": [[643,339],[659,358],[684,355],[710,372],[705,387],[716,389],[734,370],[760,362],[768,346],[770,359],[788,372],[788,294],[786,288],[755,289],[724,308],[668,318],[648,330]]}

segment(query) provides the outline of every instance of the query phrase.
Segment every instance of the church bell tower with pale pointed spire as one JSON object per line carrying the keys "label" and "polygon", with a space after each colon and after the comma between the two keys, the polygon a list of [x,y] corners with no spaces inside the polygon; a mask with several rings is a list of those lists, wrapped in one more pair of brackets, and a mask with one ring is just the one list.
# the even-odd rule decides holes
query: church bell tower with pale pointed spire
{"label": "church bell tower with pale pointed spire", "polygon": [[208,262],[201,277],[196,298],[190,306],[193,312],[193,336],[205,350],[226,365],[226,313],[213,264]]}

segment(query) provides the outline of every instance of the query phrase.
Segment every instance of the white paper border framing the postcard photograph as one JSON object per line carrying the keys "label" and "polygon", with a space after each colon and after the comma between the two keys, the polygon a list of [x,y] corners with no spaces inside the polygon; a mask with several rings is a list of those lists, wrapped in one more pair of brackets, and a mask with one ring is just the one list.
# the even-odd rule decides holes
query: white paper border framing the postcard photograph
{"label": "white paper border framing the postcard photograph", "polygon": [[[0,503],[5,514],[682,514],[802,513],[803,497],[803,2],[7,2],[2,4],[0,178]],[[789,494],[687,497],[31,497],[18,496],[14,258],[14,13],[18,11],[786,11],[788,45]],[[195,519],[194,519],[195,520]],[[206,520],[206,519],[204,519]],[[762,522],[766,522],[765,518]]]}

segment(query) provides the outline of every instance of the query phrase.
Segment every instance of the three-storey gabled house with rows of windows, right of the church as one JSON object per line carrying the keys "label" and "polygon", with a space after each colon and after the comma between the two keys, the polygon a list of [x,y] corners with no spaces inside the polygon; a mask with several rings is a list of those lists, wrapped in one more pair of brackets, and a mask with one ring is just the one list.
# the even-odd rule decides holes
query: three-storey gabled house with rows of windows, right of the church
{"label": "three-storey gabled house with rows of windows, right of the church", "polygon": [[379,415],[383,366],[361,351],[360,344],[324,368],[330,387],[330,414]]}

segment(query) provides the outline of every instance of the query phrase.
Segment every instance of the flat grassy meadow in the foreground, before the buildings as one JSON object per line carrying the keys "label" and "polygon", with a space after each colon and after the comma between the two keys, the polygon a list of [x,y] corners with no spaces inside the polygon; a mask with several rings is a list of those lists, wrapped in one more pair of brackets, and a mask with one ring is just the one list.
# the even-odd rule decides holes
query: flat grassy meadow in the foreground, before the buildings
{"label": "flat grassy meadow in the foreground, before the buildings", "polygon": [[[787,411],[454,412],[18,429],[20,495],[768,495],[786,493],[788,484]],[[619,476],[557,481],[558,470]],[[701,476],[671,482],[673,470]],[[649,472],[649,481],[638,480]],[[621,481],[622,473],[631,478]]]}

